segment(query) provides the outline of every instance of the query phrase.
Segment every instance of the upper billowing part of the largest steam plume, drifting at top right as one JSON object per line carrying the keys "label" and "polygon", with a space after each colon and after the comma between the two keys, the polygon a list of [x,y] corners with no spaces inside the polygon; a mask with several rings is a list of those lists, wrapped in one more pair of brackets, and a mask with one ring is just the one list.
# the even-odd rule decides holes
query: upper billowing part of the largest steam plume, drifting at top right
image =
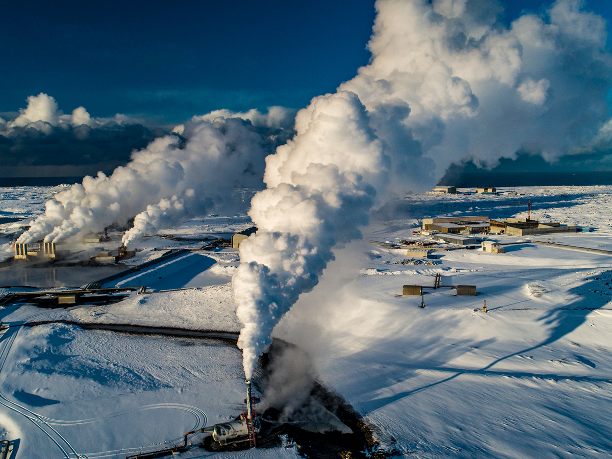
{"label": "upper billowing part of the largest steam plume, drifting at top right", "polygon": [[506,28],[497,0],[378,0],[371,62],[340,89],[359,95],[394,171],[409,165],[395,187],[424,190],[460,160],[494,166],[523,148],[554,161],[591,141],[612,66],[605,20],[583,4],[558,0]]}

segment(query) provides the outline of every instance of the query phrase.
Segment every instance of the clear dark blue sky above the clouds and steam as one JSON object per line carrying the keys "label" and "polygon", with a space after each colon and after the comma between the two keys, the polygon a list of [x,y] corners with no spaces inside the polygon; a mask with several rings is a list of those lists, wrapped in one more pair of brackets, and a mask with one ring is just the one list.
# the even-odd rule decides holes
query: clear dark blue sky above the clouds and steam
{"label": "clear dark blue sky above the clouds and steam", "polygon": [[[612,18],[612,2],[588,8]],[[538,0],[506,2],[505,20]],[[305,106],[370,54],[372,0],[7,2],[0,112],[46,92],[65,112],[179,122],[218,108]]]}

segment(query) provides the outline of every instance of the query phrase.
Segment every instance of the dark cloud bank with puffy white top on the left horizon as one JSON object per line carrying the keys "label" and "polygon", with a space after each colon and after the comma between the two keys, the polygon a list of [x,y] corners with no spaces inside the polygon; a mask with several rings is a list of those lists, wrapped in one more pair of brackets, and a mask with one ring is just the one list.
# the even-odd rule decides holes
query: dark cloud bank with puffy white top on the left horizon
{"label": "dark cloud bank with puffy white top on the left horizon", "polygon": [[122,114],[93,118],[83,106],[64,114],[56,100],[43,93],[31,95],[27,102],[14,119],[0,118],[0,161],[5,175],[92,168],[112,171],[130,160],[133,149],[166,133]]}

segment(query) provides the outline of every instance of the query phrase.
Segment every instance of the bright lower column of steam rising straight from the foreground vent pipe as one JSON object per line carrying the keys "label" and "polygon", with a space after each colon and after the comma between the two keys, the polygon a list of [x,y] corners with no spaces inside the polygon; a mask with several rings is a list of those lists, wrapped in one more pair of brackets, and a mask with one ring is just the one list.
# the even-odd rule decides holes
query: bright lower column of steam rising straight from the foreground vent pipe
{"label": "bright lower column of steam rising straight from the foreground vent pipe", "polygon": [[233,278],[247,379],[275,324],[334,258],[332,248],[361,236],[386,171],[381,143],[351,92],[313,99],[297,114],[296,130],[266,159],[267,188],[249,212],[259,230],[242,242]]}

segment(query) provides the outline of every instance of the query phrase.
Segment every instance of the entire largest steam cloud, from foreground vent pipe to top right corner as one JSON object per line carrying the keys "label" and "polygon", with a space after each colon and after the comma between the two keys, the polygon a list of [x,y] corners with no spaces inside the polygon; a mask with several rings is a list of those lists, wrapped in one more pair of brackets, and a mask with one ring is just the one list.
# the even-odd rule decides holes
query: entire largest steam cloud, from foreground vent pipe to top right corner
{"label": "entire largest steam cloud, from foreground vent pipe to top right corner", "polygon": [[[605,21],[558,0],[499,23],[497,0],[378,0],[370,64],[296,116],[252,200],[258,232],[233,278],[245,376],[337,244],[389,190],[424,190],[452,162],[521,149],[554,159],[608,121]],[[378,195],[377,195],[378,192]]]}

